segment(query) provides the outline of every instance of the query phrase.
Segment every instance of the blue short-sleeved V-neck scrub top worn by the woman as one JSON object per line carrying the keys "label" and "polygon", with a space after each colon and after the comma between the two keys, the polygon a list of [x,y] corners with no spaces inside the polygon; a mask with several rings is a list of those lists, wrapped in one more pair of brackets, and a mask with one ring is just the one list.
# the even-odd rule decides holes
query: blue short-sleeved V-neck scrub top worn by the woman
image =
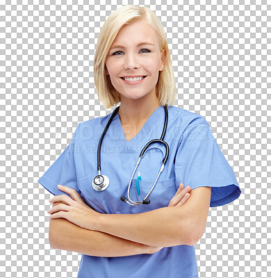
{"label": "blue short-sleeved V-neck scrub top worn by the woman", "polygon": [[[99,213],[142,213],[168,206],[179,184],[191,190],[211,186],[210,206],[222,206],[241,193],[235,174],[213,137],[208,122],[196,113],[175,106],[168,107],[165,142],[170,154],[165,168],[149,195],[150,204],[130,206],[120,200],[127,197],[131,174],[142,148],[154,138],[161,138],[165,112],[156,108],[139,133],[126,141],[119,115],[115,115],[101,145],[101,174],[110,180],[108,188],[97,192],[92,179],[97,174],[97,147],[110,115],[80,123],[72,142],[49,167],[38,182],[54,195],[66,194],[58,184],[78,191],[86,204]],[[156,143],[165,153],[165,147]],[[153,146],[153,145],[151,145]],[[150,149],[143,156],[131,183],[131,198],[141,201],[149,192],[161,167],[163,153]],[[140,195],[136,190],[138,172]],[[164,247],[155,254],[99,257],[82,254],[79,278],[86,277],[198,277],[195,248],[190,245]]]}

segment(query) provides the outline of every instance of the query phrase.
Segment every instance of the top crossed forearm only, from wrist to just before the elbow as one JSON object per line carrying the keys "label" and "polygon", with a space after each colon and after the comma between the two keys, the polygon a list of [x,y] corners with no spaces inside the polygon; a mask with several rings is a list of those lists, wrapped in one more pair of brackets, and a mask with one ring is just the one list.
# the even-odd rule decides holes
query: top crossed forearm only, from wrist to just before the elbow
{"label": "top crossed forearm only, from wrist to just before the elbow", "polygon": [[138,214],[101,214],[95,230],[157,247],[193,245],[188,215],[185,206]]}

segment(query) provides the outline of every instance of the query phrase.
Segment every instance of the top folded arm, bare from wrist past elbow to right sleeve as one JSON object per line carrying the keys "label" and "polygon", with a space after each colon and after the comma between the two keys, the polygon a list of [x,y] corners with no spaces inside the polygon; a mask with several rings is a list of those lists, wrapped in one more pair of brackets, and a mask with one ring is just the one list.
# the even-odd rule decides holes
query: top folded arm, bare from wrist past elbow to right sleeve
{"label": "top folded arm, bare from wrist past elbow to right sleeve", "polygon": [[95,230],[157,247],[195,245],[202,238],[211,200],[211,187],[191,190],[183,206],[138,214],[101,214]]}

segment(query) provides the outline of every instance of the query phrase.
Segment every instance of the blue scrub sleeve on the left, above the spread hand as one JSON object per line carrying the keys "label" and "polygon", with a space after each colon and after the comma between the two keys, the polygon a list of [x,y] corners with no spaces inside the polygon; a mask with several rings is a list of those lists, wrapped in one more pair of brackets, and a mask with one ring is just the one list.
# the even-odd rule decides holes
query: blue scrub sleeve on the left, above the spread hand
{"label": "blue scrub sleeve on the left, above the spread hand", "polygon": [[74,188],[80,194],[80,190],[77,186],[76,166],[74,163],[74,151],[76,150],[76,138],[78,136],[77,133],[79,133],[79,126],[77,126],[74,132],[72,142],[70,142],[64,152],[60,154],[56,161],[38,180],[44,188],[54,195],[65,194],[69,196],[69,194],[58,189],[58,184]]}

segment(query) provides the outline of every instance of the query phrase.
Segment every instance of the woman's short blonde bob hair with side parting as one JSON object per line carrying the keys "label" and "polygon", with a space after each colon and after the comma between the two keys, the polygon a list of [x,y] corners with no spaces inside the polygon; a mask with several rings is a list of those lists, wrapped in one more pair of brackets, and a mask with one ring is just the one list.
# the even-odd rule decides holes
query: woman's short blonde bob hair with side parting
{"label": "woman's short blonde bob hair with side parting", "polygon": [[176,98],[176,83],[170,51],[167,45],[167,38],[161,21],[156,14],[147,7],[135,5],[126,5],[118,8],[111,13],[99,33],[95,58],[94,58],[94,80],[98,93],[98,99],[106,109],[111,108],[120,102],[120,93],[113,87],[110,76],[106,75],[106,56],[115,40],[120,29],[133,22],[141,19],[147,22],[154,28],[158,35],[160,49],[165,49],[165,67],[159,72],[158,81],[156,84],[156,96],[162,106],[172,106]]}

